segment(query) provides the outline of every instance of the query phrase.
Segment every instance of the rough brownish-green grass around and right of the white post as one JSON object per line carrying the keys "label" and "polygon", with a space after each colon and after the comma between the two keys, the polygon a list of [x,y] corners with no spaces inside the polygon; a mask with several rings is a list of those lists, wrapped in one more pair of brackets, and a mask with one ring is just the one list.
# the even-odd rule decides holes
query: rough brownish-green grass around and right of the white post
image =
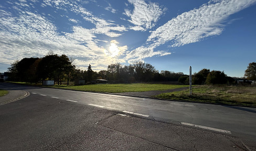
{"label": "rough brownish-green grass around and right of the white post", "polygon": [[172,100],[256,106],[256,87],[197,85],[193,87],[192,92],[193,95],[191,96],[189,96],[189,90],[186,90],[163,93],[154,97]]}

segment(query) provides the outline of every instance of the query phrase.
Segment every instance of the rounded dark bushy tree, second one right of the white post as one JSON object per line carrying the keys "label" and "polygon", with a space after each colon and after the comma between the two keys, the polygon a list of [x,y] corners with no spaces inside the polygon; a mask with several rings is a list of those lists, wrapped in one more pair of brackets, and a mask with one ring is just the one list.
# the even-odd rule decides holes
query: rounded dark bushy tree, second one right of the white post
{"label": "rounded dark bushy tree, second one right of the white post", "polygon": [[209,72],[206,78],[206,84],[226,84],[227,83],[227,75],[224,71],[215,71],[212,70]]}

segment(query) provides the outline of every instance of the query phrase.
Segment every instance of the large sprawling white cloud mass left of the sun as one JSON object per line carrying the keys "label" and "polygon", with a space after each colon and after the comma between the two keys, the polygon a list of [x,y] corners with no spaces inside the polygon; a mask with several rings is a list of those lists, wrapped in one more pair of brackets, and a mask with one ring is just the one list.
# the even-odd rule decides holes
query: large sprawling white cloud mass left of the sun
{"label": "large sprawling white cloud mass left of the sun", "polygon": [[[111,58],[106,55],[105,48],[98,45],[99,42],[109,41],[101,40],[97,35],[103,34],[109,37],[118,37],[122,35],[123,31],[127,30],[126,27],[94,16],[87,9],[77,4],[78,2],[45,0],[42,3],[30,1],[29,5],[24,3],[26,2],[12,3],[13,8],[16,10],[15,14],[8,9],[0,8],[1,63],[9,64],[25,57],[42,57],[49,50],[53,50],[54,53],[59,55],[66,54],[76,59],[74,62],[81,69],[86,69],[88,64],[91,64],[94,70],[103,70],[106,66],[105,62],[124,62],[118,56],[123,55],[127,46],[118,47],[120,53],[116,54],[115,58]],[[75,23],[71,27],[71,31],[61,31],[59,33],[54,21],[47,18],[48,14],[39,14],[31,10],[34,7],[34,3],[38,3],[41,7],[54,7],[56,11],[58,9],[71,10],[83,19],[90,21],[94,27],[87,29],[82,26],[76,26],[80,21],[78,22],[70,17],[67,19]],[[68,14],[60,15],[68,17]]]}

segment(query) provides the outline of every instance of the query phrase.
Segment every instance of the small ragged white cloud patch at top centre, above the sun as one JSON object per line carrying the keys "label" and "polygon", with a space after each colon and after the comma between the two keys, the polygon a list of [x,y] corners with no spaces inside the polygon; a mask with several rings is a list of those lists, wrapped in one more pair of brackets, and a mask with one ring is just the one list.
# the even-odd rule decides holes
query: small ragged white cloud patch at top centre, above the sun
{"label": "small ragged white cloud patch at top centre, above the sun", "polygon": [[166,8],[162,8],[157,3],[149,2],[145,3],[143,0],[128,0],[130,4],[133,4],[133,11],[124,9],[124,15],[130,17],[130,23],[135,27],[131,27],[133,30],[147,30],[155,26],[157,20],[165,12]]}

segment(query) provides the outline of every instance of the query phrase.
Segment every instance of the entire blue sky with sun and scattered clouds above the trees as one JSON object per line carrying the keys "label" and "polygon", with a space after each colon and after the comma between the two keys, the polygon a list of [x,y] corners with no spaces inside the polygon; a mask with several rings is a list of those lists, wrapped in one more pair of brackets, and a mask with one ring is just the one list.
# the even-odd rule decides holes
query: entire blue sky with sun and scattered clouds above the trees
{"label": "entire blue sky with sun and scattered clouds above the trees", "polygon": [[10,63],[72,58],[78,69],[150,63],[243,77],[256,62],[256,0],[1,0],[0,72]]}

